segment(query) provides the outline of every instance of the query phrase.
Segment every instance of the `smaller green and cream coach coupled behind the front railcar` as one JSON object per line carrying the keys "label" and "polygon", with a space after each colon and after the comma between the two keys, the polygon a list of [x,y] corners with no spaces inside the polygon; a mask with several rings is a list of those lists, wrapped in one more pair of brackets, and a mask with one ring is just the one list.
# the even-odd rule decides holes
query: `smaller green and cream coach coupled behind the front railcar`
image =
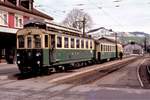
{"label": "smaller green and cream coach coupled behind the front railcar", "polygon": [[118,58],[116,53],[118,53],[118,50],[121,51],[122,46],[120,44],[117,44],[116,48],[116,42],[105,37],[98,39],[97,42],[96,59],[98,61]]}

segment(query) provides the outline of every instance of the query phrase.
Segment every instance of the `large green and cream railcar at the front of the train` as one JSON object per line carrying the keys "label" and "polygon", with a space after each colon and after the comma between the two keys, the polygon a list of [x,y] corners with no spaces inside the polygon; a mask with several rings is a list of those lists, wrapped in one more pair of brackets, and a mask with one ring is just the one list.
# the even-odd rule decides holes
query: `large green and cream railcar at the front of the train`
{"label": "large green and cream railcar at the front of the train", "polygon": [[17,65],[21,73],[82,65],[94,59],[94,40],[53,23],[29,23],[17,32]]}

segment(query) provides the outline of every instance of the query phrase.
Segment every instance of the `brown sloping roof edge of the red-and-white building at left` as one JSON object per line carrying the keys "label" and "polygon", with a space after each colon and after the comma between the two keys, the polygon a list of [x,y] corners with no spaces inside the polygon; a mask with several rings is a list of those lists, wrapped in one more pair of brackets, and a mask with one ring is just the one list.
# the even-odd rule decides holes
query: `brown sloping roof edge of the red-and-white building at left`
{"label": "brown sloping roof edge of the red-and-white building at left", "polygon": [[9,8],[16,9],[16,10],[23,11],[23,12],[27,12],[27,13],[30,13],[30,14],[33,14],[33,15],[36,15],[36,16],[40,16],[40,17],[43,17],[43,18],[46,18],[46,19],[49,19],[49,20],[53,20],[53,18],[51,16],[48,16],[48,15],[38,11],[37,9],[33,8],[32,10],[29,10],[29,9],[24,8],[21,5],[16,6],[14,4],[11,4],[7,0],[5,2],[0,1],[0,6],[9,7]]}

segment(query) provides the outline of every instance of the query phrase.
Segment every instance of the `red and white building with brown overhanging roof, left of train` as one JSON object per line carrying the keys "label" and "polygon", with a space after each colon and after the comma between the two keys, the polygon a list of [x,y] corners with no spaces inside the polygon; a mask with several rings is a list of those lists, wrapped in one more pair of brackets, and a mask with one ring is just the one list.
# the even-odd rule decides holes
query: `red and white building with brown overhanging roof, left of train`
{"label": "red and white building with brown overhanging roof, left of train", "polygon": [[53,18],[34,9],[34,0],[0,0],[0,59],[14,58],[16,32],[28,20],[52,21]]}

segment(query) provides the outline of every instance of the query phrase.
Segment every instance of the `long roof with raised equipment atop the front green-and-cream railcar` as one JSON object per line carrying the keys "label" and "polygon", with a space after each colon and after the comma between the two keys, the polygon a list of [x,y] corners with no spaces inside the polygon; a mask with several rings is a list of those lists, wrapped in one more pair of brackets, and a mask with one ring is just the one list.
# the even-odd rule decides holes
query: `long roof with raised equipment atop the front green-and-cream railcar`
{"label": "long roof with raised equipment atop the front green-and-cream railcar", "polygon": [[[39,29],[45,29],[48,31],[83,37],[83,34],[80,30],[72,28],[72,27],[60,25],[54,22],[46,22],[43,20],[29,20],[28,22],[24,24],[24,28],[28,28],[28,27],[37,27]],[[91,36],[89,35],[84,36],[84,37],[91,38]]]}

